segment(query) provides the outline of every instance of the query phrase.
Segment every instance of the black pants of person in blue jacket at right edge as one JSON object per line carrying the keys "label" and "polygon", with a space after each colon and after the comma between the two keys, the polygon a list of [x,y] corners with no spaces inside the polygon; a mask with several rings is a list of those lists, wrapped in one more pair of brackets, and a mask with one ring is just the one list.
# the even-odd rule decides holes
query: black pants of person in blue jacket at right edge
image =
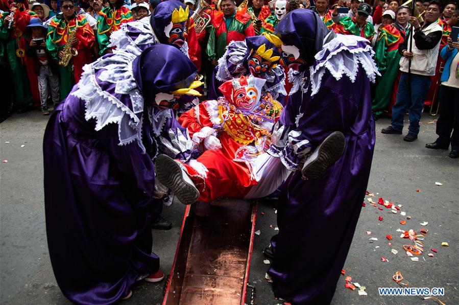
{"label": "black pants of person in blue jacket at right edge", "polygon": [[451,142],[451,150],[459,150],[459,88],[441,85],[439,98],[436,143],[449,146]]}

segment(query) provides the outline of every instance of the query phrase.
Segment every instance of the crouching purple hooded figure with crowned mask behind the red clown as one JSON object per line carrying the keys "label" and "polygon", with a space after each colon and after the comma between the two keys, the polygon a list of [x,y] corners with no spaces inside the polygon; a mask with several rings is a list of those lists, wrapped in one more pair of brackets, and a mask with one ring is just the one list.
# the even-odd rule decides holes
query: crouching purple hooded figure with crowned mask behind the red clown
{"label": "crouching purple hooded figure with crowned mask behind the red clown", "polygon": [[225,81],[241,75],[253,75],[266,80],[262,88],[263,95],[270,93],[273,99],[282,103],[287,92],[284,88],[285,72],[280,61],[279,48],[267,36],[251,36],[244,41],[232,41],[213,71],[209,99],[222,96],[218,87]]}

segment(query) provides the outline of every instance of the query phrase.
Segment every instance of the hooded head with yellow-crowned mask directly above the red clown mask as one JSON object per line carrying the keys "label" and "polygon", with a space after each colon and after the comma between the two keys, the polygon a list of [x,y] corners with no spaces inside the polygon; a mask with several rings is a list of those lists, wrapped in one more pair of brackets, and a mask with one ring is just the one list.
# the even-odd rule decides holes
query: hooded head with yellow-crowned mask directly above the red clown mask
{"label": "hooded head with yellow-crowned mask directly above the red clown mask", "polygon": [[246,38],[247,54],[244,65],[252,75],[258,75],[275,68],[281,57],[276,48],[265,36],[252,36]]}

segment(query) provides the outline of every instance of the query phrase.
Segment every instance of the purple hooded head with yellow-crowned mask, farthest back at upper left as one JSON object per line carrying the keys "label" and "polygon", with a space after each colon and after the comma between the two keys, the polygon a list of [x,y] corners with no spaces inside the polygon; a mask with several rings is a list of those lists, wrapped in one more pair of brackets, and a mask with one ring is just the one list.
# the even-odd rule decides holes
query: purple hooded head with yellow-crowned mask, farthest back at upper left
{"label": "purple hooded head with yellow-crowned mask, farthest back at upper left", "polygon": [[186,39],[186,23],[189,9],[179,1],[158,4],[150,17],[150,24],[160,43],[180,48]]}

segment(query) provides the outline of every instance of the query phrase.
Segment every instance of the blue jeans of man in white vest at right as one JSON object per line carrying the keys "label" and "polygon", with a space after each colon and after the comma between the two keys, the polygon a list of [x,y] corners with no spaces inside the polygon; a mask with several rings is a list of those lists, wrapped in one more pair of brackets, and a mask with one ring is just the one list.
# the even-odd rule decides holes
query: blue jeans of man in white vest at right
{"label": "blue jeans of man in white vest at right", "polygon": [[402,131],[403,118],[406,108],[409,107],[408,133],[418,135],[422,107],[430,88],[430,76],[412,74],[410,78],[410,84],[408,85],[408,73],[402,72],[398,85],[397,101],[392,107],[391,125],[395,130]]}

